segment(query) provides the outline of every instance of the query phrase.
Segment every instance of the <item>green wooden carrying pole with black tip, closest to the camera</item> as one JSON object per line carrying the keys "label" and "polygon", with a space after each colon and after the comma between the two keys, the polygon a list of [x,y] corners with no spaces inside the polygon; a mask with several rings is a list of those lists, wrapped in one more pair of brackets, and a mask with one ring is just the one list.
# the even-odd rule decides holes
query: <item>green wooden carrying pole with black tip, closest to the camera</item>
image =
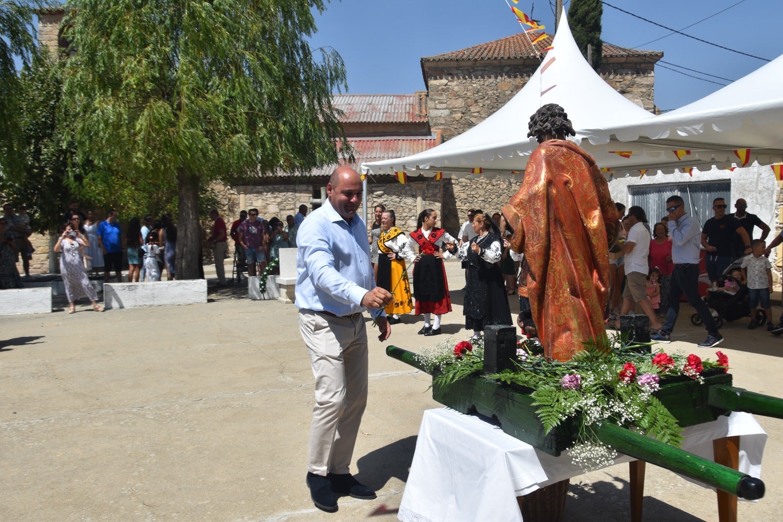
{"label": "green wooden carrying pole with black tip, closest to the camera", "polygon": [[691,477],[713,488],[747,500],[764,496],[764,483],[754,477],[639,433],[604,422],[595,430],[598,440],[616,451]]}

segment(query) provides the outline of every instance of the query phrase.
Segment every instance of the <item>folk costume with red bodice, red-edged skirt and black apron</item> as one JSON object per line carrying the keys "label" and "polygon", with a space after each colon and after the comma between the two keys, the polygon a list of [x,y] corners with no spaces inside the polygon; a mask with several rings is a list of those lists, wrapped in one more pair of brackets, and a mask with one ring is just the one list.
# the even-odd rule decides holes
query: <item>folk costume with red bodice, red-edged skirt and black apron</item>
{"label": "folk costume with red bodice, red-edged skirt and black apron", "polygon": [[[424,315],[424,325],[429,324],[429,314],[435,314],[435,329],[440,328],[440,316],[451,311],[449,282],[443,261],[435,257],[435,252],[443,249],[443,257],[449,259],[451,252],[443,247],[444,243],[456,241],[446,230],[432,227],[420,228],[410,233],[408,248],[413,254],[419,247],[421,257],[413,266],[413,297],[416,298],[416,314]],[[411,259],[413,260],[413,259]]]}

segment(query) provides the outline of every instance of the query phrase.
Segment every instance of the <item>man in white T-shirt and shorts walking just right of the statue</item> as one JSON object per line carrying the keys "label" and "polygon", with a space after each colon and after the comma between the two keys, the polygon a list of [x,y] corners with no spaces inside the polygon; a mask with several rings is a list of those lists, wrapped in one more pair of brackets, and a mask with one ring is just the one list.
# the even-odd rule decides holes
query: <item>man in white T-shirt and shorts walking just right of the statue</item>
{"label": "man in white T-shirt and shorts walking just right of the statue", "polygon": [[[656,332],[663,328],[663,324],[655,315],[652,303],[647,295],[647,276],[649,274],[648,256],[650,254],[650,233],[644,223],[647,223],[647,215],[644,208],[633,206],[628,209],[627,220],[630,223],[628,238],[620,249],[625,254],[626,265],[626,289],[622,292],[622,307],[620,315],[626,315],[634,303],[641,306],[644,313],[650,317],[650,327]],[[618,320],[619,326],[619,320]]]}

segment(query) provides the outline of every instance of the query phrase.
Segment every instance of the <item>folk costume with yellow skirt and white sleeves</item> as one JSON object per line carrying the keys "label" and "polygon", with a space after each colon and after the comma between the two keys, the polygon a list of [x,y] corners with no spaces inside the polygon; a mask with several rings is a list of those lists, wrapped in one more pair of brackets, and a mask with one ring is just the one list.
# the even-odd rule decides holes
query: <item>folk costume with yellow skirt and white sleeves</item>
{"label": "folk costume with yellow skirt and white sleeves", "polygon": [[[408,238],[397,227],[391,227],[385,232],[381,230],[377,241],[378,276],[375,283],[394,294],[394,301],[386,306],[386,315],[393,315],[395,319],[413,310],[410,282],[404,261],[406,257],[411,257],[413,252],[405,252],[407,244]],[[389,259],[389,254],[395,254],[396,259]]]}

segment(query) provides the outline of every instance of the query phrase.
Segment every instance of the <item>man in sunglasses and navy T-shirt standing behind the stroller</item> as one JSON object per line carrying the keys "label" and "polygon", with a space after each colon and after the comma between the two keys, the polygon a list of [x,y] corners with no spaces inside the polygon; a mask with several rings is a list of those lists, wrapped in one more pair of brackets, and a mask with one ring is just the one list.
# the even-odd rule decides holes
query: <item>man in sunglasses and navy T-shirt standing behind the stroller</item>
{"label": "man in sunglasses and navy T-shirt standing behind the stroller", "polygon": [[[702,246],[707,251],[704,262],[707,267],[707,277],[712,282],[713,288],[716,286],[718,276],[723,274],[734,259],[747,256],[751,252],[748,233],[738,219],[726,215],[726,207],[726,200],[715,198],[713,201],[715,216],[707,219],[707,223],[704,223],[702,228]],[[742,250],[734,250],[734,234],[740,237]]]}

